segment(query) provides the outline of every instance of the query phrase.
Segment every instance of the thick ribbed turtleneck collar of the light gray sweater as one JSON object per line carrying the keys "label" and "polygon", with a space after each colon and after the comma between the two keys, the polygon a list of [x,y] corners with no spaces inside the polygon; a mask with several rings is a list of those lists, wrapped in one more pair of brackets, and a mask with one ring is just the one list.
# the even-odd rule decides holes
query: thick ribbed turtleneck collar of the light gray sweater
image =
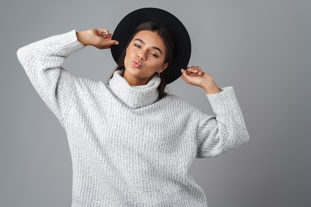
{"label": "thick ribbed turtleneck collar of the light gray sweater", "polygon": [[156,102],[158,98],[157,87],[161,79],[154,76],[146,85],[130,86],[122,77],[123,71],[117,70],[109,80],[111,91],[127,106],[136,109]]}

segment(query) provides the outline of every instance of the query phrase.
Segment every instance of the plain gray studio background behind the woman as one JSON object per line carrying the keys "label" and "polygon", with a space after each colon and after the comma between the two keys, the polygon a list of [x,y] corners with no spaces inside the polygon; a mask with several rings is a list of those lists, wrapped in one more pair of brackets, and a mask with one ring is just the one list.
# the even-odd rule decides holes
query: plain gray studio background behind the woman
{"label": "plain gray studio background behind the woman", "polygon": [[[89,28],[114,31],[129,12],[159,7],[177,16],[192,40],[189,65],[220,87],[233,86],[250,141],[191,173],[209,207],[305,207],[311,204],[310,0],[2,0],[0,3],[0,206],[71,205],[66,134],[16,58],[34,41]],[[109,50],[72,54],[71,73],[106,81]],[[169,85],[206,113],[204,91],[182,79]]]}

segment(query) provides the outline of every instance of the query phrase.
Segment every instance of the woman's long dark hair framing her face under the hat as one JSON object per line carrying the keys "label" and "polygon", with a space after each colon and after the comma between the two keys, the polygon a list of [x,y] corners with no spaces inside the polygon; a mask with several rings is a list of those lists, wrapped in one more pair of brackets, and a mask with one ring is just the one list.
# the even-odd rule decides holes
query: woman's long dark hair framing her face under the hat
{"label": "woman's long dark hair framing her face under the hat", "polygon": [[[133,32],[132,36],[130,37],[126,47],[124,48],[123,52],[121,53],[120,59],[118,61],[118,66],[116,67],[115,71],[117,70],[124,70],[124,59],[126,55],[126,49],[128,48],[129,44],[132,42],[133,38],[137,33],[143,30],[153,31],[156,32],[160,38],[163,40],[165,45],[165,59],[164,63],[168,62],[168,66],[165,70],[163,70],[160,74],[160,85],[157,87],[157,91],[159,93],[158,99],[162,99],[166,96],[165,87],[168,81],[168,77],[170,74],[171,63],[173,62],[173,52],[174,52],[174,39],[170,31],[163,27],[162,25],[156,22],[145,22],[139,25]],[[156,74],[155,74],[156,75]],[[110,79],[112,78],[113,74],[111,75]]]}

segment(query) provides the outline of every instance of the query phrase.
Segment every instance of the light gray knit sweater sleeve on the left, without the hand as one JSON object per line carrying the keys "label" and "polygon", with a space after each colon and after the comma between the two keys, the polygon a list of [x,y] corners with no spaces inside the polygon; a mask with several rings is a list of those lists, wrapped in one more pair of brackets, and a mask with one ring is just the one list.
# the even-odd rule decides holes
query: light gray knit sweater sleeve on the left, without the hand
{"label": "light gray knit sweater sleeve on the left, without the hand", "polygon": [[33,87],[61,123],[72,100],[75,82],[75,76],[61,66],[68,55],[82,48],[73,30],[17,51],[18,60]]}

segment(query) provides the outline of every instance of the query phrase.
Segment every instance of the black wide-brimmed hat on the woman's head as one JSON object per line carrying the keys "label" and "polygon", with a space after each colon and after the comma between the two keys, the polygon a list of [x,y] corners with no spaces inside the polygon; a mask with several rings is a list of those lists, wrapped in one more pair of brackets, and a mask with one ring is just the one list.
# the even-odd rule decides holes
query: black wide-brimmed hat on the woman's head
{"label": "black wide-brimmed hat on the woman's head", "polygon": [[156,22],[166,27],[173,35],[175,47],[167,84],[171,83],[181,76],[181,68],[187,68],[191,55],[191,42],[185,26],[167,11],[159,8],[141,8],[126,15],[112,36],[113,40],[119,42],[119,45],[111,46],[113,59],[118,63],[134,30],[145,22]]}

